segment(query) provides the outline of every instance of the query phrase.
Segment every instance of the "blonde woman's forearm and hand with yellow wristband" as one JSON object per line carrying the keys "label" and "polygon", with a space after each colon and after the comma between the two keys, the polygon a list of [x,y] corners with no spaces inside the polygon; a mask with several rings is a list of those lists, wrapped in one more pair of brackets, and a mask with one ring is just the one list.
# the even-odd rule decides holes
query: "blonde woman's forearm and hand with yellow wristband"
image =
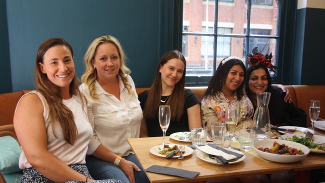
{"label": "blonde woman's forearm and hand with yellow wristband", "polygon": [[[104,147],[102,144],[98,146],[96,151],[92,154],[93,156],[113,163],[114,160],[116,159],[117,155],[110,150],[108,150],[106,147]],[[134,173],[133,169],[136,171],[141,171],[139,167],[137,167],[133,162],[128,161],[124,159],[120,164],[119,167],[123,170],[127,178],[130,180],[131,183],[135,183],[135,178],[134,178]]]}

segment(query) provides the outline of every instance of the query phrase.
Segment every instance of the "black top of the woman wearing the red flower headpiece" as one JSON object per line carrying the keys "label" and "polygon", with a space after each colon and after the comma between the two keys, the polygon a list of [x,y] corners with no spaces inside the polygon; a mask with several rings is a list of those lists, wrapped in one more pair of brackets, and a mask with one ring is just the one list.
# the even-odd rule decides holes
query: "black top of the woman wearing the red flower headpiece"
{"label": "black top of the woman wearing the red flower headpiece", "polygon": [[268,110],[271,124],[306,126],[306,113],[292,102],[285,102],[285,92],[281,88],[271,86],[270,92],[271,97],[268,103]]}

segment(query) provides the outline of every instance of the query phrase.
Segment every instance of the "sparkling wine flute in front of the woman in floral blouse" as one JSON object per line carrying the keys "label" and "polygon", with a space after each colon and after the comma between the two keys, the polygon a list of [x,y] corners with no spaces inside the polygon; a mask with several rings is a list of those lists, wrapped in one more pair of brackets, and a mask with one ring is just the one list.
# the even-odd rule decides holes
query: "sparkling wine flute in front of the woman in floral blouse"
{"label": "sparkling wine flute in front of the woman in floral blouse", "polygon": [[226,108],[225,109],[224,123],[225,123],[225,129],[227,130],[228,135],[229,135],[228,148],[232,148],[231,138],[234,134],[234,130],[235,130],[236,124],[237,124],[236,109],[234,109],[234,108]]}

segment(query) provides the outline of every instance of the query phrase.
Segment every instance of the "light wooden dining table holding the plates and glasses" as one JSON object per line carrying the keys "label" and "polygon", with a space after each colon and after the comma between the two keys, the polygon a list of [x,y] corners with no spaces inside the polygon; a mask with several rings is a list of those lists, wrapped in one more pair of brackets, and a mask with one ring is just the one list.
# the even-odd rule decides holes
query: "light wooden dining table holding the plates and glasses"
{"label": "light wooden dining table holding the plates and glasses", "polygon": [[[315,131],[316,134],[325,135],[323,131]],[[162,142],[162,137],[128,138],[127,140],[144,169],[156,164],[200,172],[194,179],[146,172],[151,182],[193,182],[230,177],[234,178],[278,171],[298,171],[325,168],[325,154],[320,153],[311,152],[305,159],[299,162],[277,163],[265,162],[250,153],[245,152],[246,157],[241,162],[229,165],[215,165],[199,159],[196,156],[196,150],[194,150],[191,155],[185,156],[183,159],[165,159],[151,154],[149,149]],[[166,142],[186,145],[190,144],[170,139],[168,136],[166,137]]]}

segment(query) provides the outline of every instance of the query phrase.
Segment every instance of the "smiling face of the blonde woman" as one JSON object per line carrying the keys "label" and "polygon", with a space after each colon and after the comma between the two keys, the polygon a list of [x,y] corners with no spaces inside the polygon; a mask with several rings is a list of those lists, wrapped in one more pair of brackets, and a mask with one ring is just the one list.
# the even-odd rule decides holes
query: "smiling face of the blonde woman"
{"label": "smiling face of the blonde woman", "polygon": [[102,43],[96,48],[93,65],[97,70],[97,80],[115,79],[119,70],[119,53],[112,43]]}

